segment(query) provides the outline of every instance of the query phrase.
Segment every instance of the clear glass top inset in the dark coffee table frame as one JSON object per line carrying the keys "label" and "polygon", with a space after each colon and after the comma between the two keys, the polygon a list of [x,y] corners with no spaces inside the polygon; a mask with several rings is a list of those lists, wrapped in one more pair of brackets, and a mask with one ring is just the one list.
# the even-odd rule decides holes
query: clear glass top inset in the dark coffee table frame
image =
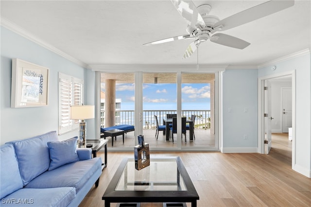
{"label": "clear glass top inset in the dark coffee table frame", "polygon": [[115,190],[187,190],[176,159],[151,159],[150,166],[135,169],[135,160],[129,158]]}

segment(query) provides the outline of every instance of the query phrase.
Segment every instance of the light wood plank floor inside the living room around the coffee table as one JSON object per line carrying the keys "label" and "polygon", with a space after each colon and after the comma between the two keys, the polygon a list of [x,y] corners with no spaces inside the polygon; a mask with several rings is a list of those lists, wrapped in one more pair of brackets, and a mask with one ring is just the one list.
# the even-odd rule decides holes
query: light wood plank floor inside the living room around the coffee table
{"label": "light wood plank floor inside the living room around the coffee table", "polygon": [[[310,207],[311,179],[291,169],[292,142],[288,141],[288,134],[274,134],[272,140],[269,155],[219,152],[152,155],[182,158],[200,196],[198,207]],[[102,196],[121,159],[132,155],[108,153],[108,165],[99,187],[89,191],[80,207],[103,207]],[[162,204],[144,203],[141,207],[162,207]]]}

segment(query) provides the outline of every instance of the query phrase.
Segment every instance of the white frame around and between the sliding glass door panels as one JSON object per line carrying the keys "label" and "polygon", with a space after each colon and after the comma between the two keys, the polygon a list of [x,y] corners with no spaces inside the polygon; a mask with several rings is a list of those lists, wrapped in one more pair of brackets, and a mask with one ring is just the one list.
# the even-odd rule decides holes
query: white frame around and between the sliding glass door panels
{"label": "white frame around and between the sliding glass door panels", "polygon": [[[181,146],[181,139],[176,139],[177,142],[177,147],[176,148],[161,148],[158,150],[153,150],[153,151],[167,151],[167,152],[173,152],[173,151],[220,151],[221,148],[221,143],[222,143],[222,72],[223,70],[218,70],[218,71],[191,71],[189,72],[189,70],[187,71],[174,71],[174,70],[168,70],[168,71],[156,71],[156,70],[139,70],[139,71],[131,71],[131,70],[120,70],[120,71],[104,71],[104,70],[100,70],[100,71],[95,71],[95,92],[96,92],[96,96],[95,96],[95,111],[97,113],[95,116],[95,126],[100,126],[100,116],[98,116],[98,114],[100,114],[100,86],[101,86],[101,80],[100,80],[100,76],[101,73],[133,73],[135,76],[135,137],[137,137],[138,135],[141,135],[143,133],[143,119],[142,119],[142,114],[143,114],[143,104],[142,104],[142,100],[143,100],[143,91],[142,91],[142,84],[143,84],[143,80],[142,80],[142,74],[143,73],[176,73],[177,74],[177,137],[181,137],[181,113],[182,113],[182,107],[181,107],[181,74],[182,73],[214,73],[215,74],[215,147],[213,148],[188,148],[188,147],[182,147]],[[100,137],[100,127],[95,127],[96,128],[96,135],[97,137]],[[138,140],[135,139],[135,145],[138,144]],[[135,146],[134,145],[134,146]],[[134,147],[133,146],[133,147]],[[133,149],[129,149],[129,148],[119,148],[116,149],[119,152],[128,152],[128,151],[132,151]]]}

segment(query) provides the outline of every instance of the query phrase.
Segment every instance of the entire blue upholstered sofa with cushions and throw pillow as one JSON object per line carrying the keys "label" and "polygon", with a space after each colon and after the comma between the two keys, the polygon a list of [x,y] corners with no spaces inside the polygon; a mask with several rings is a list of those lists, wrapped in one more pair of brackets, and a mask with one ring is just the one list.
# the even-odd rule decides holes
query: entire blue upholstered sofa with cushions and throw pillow
{"label": "entire blue upholstered sofa with cushions and throw pillow", "polygon": [[52,131],[0,146],[0,206],[78,207],[98,186],[102,160],[76,141]]}

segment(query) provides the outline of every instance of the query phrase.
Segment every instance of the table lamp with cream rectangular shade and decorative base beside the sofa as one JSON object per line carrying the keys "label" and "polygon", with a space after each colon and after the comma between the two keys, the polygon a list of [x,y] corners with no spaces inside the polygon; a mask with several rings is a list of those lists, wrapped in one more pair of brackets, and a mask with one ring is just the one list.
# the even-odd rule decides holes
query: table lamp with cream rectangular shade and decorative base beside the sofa
{"label": "table lamp with cream rectangular shade and decorative base beside the sofa", "polygon": [[79,122],[79,147],[86,144],[86,119],[94,118],[94,105],[71,105],[70,119]]}

